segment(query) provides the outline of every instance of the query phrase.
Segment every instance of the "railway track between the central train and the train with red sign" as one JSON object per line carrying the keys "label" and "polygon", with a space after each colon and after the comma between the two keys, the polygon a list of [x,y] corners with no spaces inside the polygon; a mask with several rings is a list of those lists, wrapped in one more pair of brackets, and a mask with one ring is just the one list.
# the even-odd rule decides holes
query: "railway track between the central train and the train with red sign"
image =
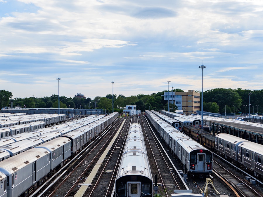
{"label": "railway track between the central train and the train with red sign", "polygon": [[[145,116],[140,116],[141,126],[144,133],[148,159],[151,164],[151,172],[153,177],[158,174],[158,182],[160,183],[158,193],[163,193],[166,196],[171,196],[174,189],[188,189],[181,175],[175,169],[170,158],[162,148],[160,142],[156,140],[153,129],[150,128]],[[147,143],[148,142],[148,143]],[[154,180],[153,180],[154,181]]]}

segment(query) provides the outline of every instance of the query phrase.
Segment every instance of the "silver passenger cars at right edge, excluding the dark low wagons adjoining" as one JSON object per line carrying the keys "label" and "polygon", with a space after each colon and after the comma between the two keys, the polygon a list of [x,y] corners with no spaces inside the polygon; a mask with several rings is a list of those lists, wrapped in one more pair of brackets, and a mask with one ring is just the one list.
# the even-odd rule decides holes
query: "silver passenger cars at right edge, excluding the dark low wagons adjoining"
{"label": "silver passenger cars at right edge, excluding the dark low wagons adjoining", "polygon": [[234,161],[240,168],[263,179],[263,145],[226,133],[215,138],[215,150]]}

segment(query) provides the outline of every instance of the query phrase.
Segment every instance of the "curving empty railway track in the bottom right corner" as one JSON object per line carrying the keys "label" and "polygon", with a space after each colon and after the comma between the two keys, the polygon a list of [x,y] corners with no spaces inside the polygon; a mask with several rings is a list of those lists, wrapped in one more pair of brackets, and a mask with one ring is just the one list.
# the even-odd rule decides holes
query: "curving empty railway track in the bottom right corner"
{"label": "curving empty railway track in the bottom right corner", "polygon": [[243,197],[261,197],[262,193],[258,193],[253,189],[248,182],[244,179],[239,178],[232,172],[226,169],[223,165],[219,164],[219,160],[213,159],[213,172],[215,175],[219,176],[230,188],[233,190],[236,196]]}

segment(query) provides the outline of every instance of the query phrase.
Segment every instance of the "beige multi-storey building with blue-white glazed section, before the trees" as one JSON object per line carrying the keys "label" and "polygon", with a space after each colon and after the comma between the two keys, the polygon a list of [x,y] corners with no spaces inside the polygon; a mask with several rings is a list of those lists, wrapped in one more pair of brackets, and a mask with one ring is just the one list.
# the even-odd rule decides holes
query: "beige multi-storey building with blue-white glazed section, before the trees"
{"label": "beige multi-storey building with blue-white glazed section, before the trees", "polygon": [[188,90],[188,92],[164,92],[164,100],[169,100],[169,103],[173,103],[178,107],[178,110],[183,110],[186,115],[195,114],[197,110],[200,110],[200,93],[194,90]]}

